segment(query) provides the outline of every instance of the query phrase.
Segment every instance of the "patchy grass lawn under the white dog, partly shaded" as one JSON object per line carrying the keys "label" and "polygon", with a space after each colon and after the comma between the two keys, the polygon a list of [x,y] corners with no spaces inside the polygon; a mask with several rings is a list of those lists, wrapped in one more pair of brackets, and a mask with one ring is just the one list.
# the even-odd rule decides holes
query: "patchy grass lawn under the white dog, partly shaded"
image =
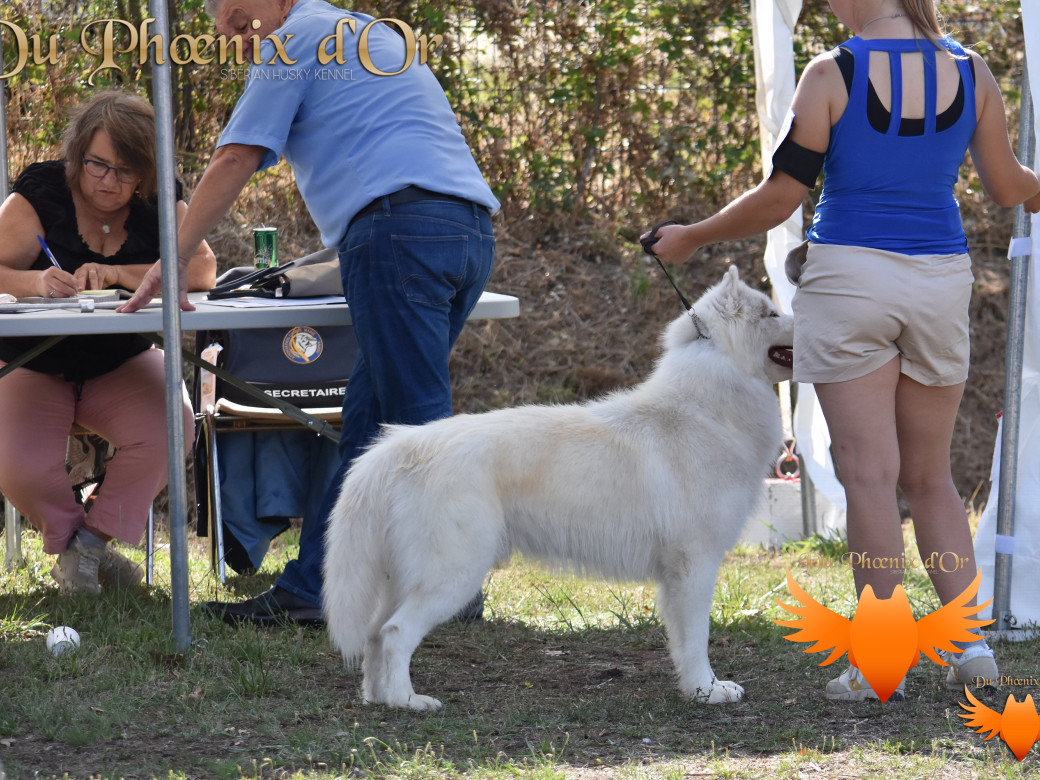
{"label": "patchy grass lawn under the white dog, partly shaded", "polygon": [[[908,537],[908,553],[916,555]],[[198,605],[267,588],[295,555],[278,540],[261,573],[209,573],[191,541],[191,649],[172,641],[165,547],[148,590],[59,595],[33,532],[26,566],[0,573],[0,778],[1026,778],[998,737],[984,742],[922,659],[907,701],[829,702],[844,669],[783,639],[784,571],[851,617],[852,574],[839,542],[779,552],[738,548],[719,576],[711,614],[716,673],[744,685],[736,704],[708,706],[675,687],[647,583],[548,574],[516,558],[487,583],[483,623],[445,625],[413,661],[433,714],[366,706],[360,675],[320,630],[233,628]],[[140,554],[131,551],[131,554]],[[915,614],[938,603],[920,568],[905,584]],[[988,617],[988,615],[986,616]],[[82,635],[75,656],[44,647],[51,626]],[[1000,673],[1037,677],[1038,642],[995,645]],[[980,694],[1002,710],[1036,690]]]}

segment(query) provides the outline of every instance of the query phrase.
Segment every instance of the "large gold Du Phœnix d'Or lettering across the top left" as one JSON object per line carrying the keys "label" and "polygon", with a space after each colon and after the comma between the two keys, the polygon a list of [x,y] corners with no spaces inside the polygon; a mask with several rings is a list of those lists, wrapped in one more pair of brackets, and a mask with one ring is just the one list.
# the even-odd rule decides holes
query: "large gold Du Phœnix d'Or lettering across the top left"
{"label": "large gold Du Ph\u0153nix d'Or lettering across the top left", "polygon": [[[168,46],[163,45],[162,36],[152,32],[152,25],[155,19],[146,19],[138,26],[121,19],[101,19],[90,22],[80,30],[79,44],[83,51],[93,57],[98,58],[99,64],[87,78],[93,84],[94,77],[105,70],[123,71],[118,64],[116,57],[120,55],[137,56],[139,64],[145,64],[154,57],[157,64],[165,64],[167,59],[175,64],[284,64],[292,66],[297,60],[289,56],[286,46],[293,37],[292,33],[283,36],[274,33],[261,38],[259,35],[250,35],[249,43],[252,45],[252,57],[246,59],[244,55],[244,42],[241,35],[175,35]],[[371,29],[376,24],[386,24],[397,29],[404,38],[405,56],[401,67],[396,71],[383,71],[375,66],[370,56],[368,48],[368,37]],[[260,27],[258,20],[253,21],[253,29]],[[336,23],[335,31],[323,37],[318,45],[317,59],[322,66],[338,64],[347,62],[347,57],[343,52],[343,40],[346,34],[344,28],[349,29],[350,34],[358,37],[358,59],[361,67],[376,76],[395,76],[408,70],[414,61],[415,54],[419,54],[420,64],[424,64],[430,57],[431,48],[441,46],[443,37],[441,35],[417,35],[412,27],[399,19],[384,18],[375,19],[358,29],[357,20],[344,17]],[[15,22],[0,19],[0,43],[3,42],[4,34],[14,35],[15,51],[18,56],[15,63],[8,70],[0,73],[0,80],[9,78],[21,73],[32,59],[34,64],[58,64],[60,53],[61,36],[53,32],[47,36],[46,43],[40,33],[26,34],[26,31]],[[260,44],[262,41],[269,41],[274,44],[275,54],[264,61],[260,56]]]}

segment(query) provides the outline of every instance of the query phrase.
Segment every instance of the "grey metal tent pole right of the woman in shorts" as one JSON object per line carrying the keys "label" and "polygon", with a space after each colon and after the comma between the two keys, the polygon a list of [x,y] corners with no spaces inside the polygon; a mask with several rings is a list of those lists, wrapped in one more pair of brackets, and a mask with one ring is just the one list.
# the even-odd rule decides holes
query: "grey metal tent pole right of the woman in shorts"
{"label": "grey metal tent pole right of the woman in shorts", "polygon": [[[1018,160],[1033,167],[1035,128],[1029,70],[1023,60],[1022,101],[1018,132]],[[1013,239],[1030,235],[1030,218],[1015,207]],[[1013,243],[1013,246],[1016,245]],[[1020,244],[1019,244],[1020,245]],[[1011,614],[1011,562],[1015,538],[1015,485],[1018,471],[1018,425],[1022,396],[1022,352],[1025,342],[1025,295],[1029,290],[1030,253],[1011,257],[1011,291],[1008,296],[1007,369],[1004,385],[1004,424],[1000,426],[1000,483],[996,503],[996,544],[993,567],[993,619],[990,626],[1005,631],[1015,626]]]}

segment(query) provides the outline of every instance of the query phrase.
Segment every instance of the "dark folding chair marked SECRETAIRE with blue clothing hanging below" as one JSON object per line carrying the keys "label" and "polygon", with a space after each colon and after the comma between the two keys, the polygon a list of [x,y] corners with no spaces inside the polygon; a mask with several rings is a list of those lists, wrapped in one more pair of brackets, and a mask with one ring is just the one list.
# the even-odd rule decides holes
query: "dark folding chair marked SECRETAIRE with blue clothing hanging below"
{"label": "dark folding chair marked SECRETAIRE with blue clothing hanging below", "polygon": [[[349,326],[204,331],[196,340],[208,363],[333,426],[357,349]],[[224,582],[227,566],[259,568],[290,519],[316,511],[338,447],[205,370],[196,373],[194,404],[197,532],[209,538],[210,563]]]}

